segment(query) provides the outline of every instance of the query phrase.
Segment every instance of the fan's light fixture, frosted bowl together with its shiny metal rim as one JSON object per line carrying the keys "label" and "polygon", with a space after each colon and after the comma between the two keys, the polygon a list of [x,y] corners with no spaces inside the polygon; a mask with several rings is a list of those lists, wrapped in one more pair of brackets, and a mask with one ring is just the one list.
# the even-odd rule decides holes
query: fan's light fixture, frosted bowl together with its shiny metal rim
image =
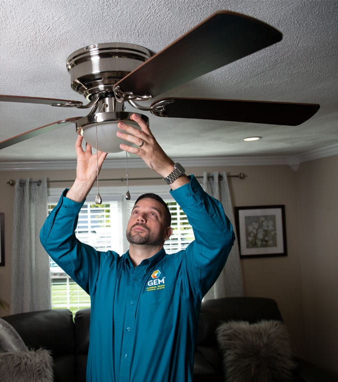
{"label": "fan's light fixture, frosted bowl together with its shiny metal rim", "polygon": [[[97,148],[104,152],[119,152],[120,144],[133,145],[131,142],[116,136],[119,130],[117,124],[123,122],[140,129],[139,125],[130,119],[133,113],[129,112],[101,112],[90,114],[76,121],[76,131],[83,135],[84,139],[96,148],[96,123],[97,123]],[[148,117],[139,114],[148,123]],[[95,119],[96,117],[96,119]],[[122,130],[121,130],[122,131]],[[126,131],[123,131],[126,133]]]}

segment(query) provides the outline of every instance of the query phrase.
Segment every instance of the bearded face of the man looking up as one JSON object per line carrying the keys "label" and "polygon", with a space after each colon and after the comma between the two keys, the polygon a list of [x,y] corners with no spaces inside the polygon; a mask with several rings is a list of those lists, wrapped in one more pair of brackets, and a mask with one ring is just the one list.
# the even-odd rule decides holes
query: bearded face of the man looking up
{"label": "bearded face of the man looking up", "polygon": [[163,245],[172,229],[165,224],[164,206],[151,198],[140,199],[127,225],[127,239],[133,244]]}

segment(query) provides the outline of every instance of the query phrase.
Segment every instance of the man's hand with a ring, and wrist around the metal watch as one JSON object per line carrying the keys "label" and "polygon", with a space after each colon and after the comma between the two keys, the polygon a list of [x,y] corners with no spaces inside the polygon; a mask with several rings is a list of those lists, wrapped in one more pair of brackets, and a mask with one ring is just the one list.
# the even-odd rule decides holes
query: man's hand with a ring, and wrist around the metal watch
{"label": "man's hand with a ring, and wrist around the metal watch", "polygon": [[[174,161],[163,151],[147,123],[138,114],[132,114],[131,119],[137,122],[141,130],[120,122],[118,127],[128,132],[128,134],[117,131],[116,135],[138,147],[121,143],[120,148],[140,156],[149,168],[153,169],[162,177],[168,176],[174,168]],[[181,176],[171,184],[171,188],[176,188],[187,182],[189,182],[189,178],[187,176]]]}

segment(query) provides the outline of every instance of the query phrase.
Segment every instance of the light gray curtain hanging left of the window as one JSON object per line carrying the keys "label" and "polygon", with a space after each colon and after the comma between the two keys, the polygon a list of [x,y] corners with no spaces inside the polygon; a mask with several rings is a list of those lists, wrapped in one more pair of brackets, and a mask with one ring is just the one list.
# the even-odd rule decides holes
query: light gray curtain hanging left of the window
{"label": "light gray curtain hanging left of the window", "polygon": [[49,309],[49,257],[39,240],[47,216],[47,179],[16,179],[13,205],[11,312]]}

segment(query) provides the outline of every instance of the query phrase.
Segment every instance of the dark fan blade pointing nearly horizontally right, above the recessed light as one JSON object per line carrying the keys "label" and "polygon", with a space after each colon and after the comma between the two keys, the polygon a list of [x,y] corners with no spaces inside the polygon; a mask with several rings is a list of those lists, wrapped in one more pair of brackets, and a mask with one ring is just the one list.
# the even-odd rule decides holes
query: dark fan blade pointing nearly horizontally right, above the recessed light
{"label": "dark fan blade pointing nearly horizontally right, above the recessed light", "polygon": [[[152,113],[175,118],[199,118],[296,126],[311,118],[318,103],[291,103],[210,98],[168,98],[153,102]],[[157,110],[156,110],[157,106]]]}

